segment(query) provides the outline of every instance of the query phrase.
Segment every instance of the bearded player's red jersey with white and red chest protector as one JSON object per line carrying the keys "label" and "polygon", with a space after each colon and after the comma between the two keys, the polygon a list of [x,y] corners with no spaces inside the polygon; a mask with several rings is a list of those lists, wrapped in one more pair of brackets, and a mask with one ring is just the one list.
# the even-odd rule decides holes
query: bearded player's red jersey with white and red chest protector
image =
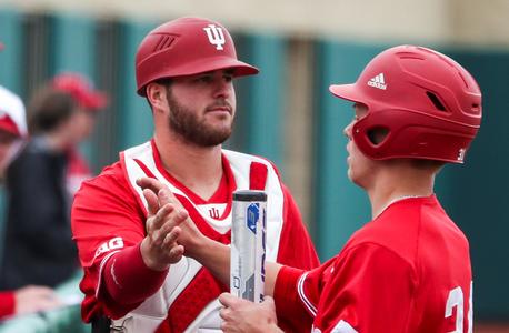
{"label": "bearded player's red jersey with white and red chest protector", "polygon": [[[97,314],[128,324],[134,319],[132,321],[142,322],[131,325],[136,332],[156,327],[157,332],[182,332],[203,325],[219,329],[217,297],[228,287],[208,270],[186,256],[171,265],[169,272],[154,272],[143,264],[139,244],[146,236],[147,209],[134,184],[142,175],[166,183],[200,231],[226,244],[230,243],[232,192],[253,186],[266,190],[269,260],[301,269],[319,264],[298,208],[280,183],[276,169],[260,158],[226,150],[222,161],[223,179],[209,200],[199,198],[166,172],[153,142],[123,152],[120,162],[83,183],[72,206],[72,231],[84,270],[80,284],[86,294],[84,321]],[[128,280],[131,282],[126,282]],[[111,295],[101,286],[108,281],[121,285],[113,284],[117,294]]]}

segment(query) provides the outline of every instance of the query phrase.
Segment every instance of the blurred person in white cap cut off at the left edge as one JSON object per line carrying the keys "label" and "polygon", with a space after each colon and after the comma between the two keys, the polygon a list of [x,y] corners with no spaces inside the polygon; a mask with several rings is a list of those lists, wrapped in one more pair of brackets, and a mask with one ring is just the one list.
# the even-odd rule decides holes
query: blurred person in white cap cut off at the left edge
{"label": "blurred person in white cap cut off at the left edge", "polygon": [[[22,148],[27,139],[24,105],[21,99],[0,87],[0,175]],[[9,253],[9,251],[7,252]],[[53,290],[27,285],[17,290],[0,290],[0,320],[51,310],[61,303]]]}

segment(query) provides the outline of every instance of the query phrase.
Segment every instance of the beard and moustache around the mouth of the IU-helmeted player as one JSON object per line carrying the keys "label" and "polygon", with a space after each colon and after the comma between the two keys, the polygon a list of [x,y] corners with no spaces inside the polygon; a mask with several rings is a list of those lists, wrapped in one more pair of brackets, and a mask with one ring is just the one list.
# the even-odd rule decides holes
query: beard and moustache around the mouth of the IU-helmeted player
{"label": "beard and moustache around the mouth of the IU-helmeted player", "polygon": [[[186,142],[200,147],[213,147],[223,143],[231,135],[234,110],[226,100],[211,102],[204,110],[196,110],[180,103],[167,89],[168,107],[170,109],[168,123],[170,129],[179,134]],[[207,117],[209,110],[216,108],[229,110],[230,115],[222,115],[224,119],[213,121],[212,117]],[[221,118],[221,115],[218,115]]]}

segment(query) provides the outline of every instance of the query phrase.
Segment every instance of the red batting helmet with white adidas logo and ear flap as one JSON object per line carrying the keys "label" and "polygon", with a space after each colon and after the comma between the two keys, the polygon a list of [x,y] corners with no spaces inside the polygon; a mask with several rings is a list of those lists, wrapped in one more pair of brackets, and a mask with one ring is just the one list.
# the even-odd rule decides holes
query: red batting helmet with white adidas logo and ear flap
{"label": "red batting helmet with white adidas logo and ear flap", "polygon": [[[353,84],[332,94],[368,107],[353,124],[353,141],[375,160],[415,158],[462,163],[481,122],[481,91],[455,60],[415,46],[375,57]],[[380,143],[369,133],[388,132]]]}

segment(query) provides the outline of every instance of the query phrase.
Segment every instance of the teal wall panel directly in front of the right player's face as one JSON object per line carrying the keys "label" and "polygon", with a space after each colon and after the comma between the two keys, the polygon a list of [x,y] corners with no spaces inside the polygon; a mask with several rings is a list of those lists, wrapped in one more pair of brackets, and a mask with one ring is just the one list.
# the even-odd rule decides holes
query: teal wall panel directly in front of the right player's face
{"label": "teal wall panel directly in front of the right player's face", "polygon": [[367,195],[347,176],[343,128],[353,118],[352,107],[332,97],[329,85],[355,82],[380,48],[332,41],[318,42],[316,48],[315,243],[325,261],[338,253],[351,233],[370,220]]}

